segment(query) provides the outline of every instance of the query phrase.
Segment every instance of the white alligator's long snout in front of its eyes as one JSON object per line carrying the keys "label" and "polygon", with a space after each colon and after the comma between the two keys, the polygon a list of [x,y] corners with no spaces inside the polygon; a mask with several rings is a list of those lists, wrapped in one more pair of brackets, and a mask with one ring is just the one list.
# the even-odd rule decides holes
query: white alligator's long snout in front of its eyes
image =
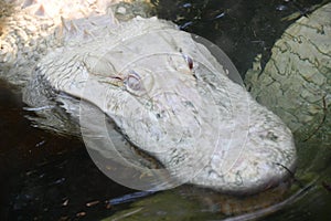
{"label": "white alligator's long snout in front of its eyes", "polygon": [[[177,72],[167,73],[171,81],[177,78]],[[285,124],[226,76],[218,80],[224,88],[215,90],[205,87],[204,74],[195,75],[195,83],[169,88],[169,81],[166,87],[151,90],[153,94],[138,96],[122,85],[90,80],[81,97],[95,104],[130,143],[164,166],[167,176],[164,170],[151,172],[158,175],[152,181],[158,187],[146,183],[143,190],[190,182],[249,194],[287,179],[288,170],[295,169],[296,148]],[[154,73],[153,78],[162,77]],[[132,155],[121,158],[128,167],[132,165],[127,161],[135,161]]]}

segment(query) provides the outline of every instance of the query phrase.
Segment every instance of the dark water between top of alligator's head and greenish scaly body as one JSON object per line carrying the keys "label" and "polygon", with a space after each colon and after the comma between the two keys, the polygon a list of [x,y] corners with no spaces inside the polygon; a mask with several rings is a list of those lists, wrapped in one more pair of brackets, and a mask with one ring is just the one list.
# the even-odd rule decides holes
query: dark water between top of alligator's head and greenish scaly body
{"label": "dark water between top of alligator's head and greenish scaly body", "polygon": [[292,13],[308,15],[322,0],[160,0],[158,15],[175,21],[183,30],[217,44],[241,75],[250,67],[256,54],[264,62],[284,30],[292,23],[281,21]]}

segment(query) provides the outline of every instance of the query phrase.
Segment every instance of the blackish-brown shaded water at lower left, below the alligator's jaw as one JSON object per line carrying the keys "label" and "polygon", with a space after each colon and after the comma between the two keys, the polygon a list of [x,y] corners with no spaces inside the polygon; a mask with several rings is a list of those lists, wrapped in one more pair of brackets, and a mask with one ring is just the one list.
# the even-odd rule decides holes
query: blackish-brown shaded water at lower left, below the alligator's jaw
{"label": "blackish-brown shaded water at lower left, below the alligator's jaw", "polygon": [[105,200],[132,192],[106,178],[81,140],[32,127],[20,101],[0,83],[0,220],[97,219],[109,214]]}

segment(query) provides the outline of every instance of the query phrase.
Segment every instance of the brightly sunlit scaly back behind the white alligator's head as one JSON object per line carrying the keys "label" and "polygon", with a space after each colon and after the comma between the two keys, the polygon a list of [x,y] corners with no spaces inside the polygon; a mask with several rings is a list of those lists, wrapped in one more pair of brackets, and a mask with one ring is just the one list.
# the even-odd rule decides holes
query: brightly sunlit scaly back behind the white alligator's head
{"label": "brightly sunlit scaly back behind the white alligator's head", "polygon": [[[9,2],[9,3],[6,3]],[[1,1],[1,75],[14,85],[24,85],[36,61],[63,44],[63,21],[107,13],[118,0],[13,0]],[[20,74],[18,74],[20,73]]]}

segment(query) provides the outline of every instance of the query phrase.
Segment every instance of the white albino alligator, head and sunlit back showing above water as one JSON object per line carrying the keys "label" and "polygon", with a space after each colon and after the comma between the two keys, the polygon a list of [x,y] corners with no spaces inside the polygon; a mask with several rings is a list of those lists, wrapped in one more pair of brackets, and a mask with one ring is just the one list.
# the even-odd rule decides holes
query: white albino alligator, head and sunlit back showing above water
{"label": "white albino alligator, head and sunlit back showing above water", "polygon": [[161,176],[174,178],[148,188],[190,182],[252,193],[293,170],[290,130],[191,34],[157,18],[119,24],[107,14],[109,1],[41,3],[18,3],[4,18],[1,77],[23,88],[36,113],[58,104],[72,124],[81,117],[88,146],[106,157],[119,151],[139,164],[138,155],[100,144],[108,131],[96,113],[104,113],[105,124],[111,119],[167,169]]}

